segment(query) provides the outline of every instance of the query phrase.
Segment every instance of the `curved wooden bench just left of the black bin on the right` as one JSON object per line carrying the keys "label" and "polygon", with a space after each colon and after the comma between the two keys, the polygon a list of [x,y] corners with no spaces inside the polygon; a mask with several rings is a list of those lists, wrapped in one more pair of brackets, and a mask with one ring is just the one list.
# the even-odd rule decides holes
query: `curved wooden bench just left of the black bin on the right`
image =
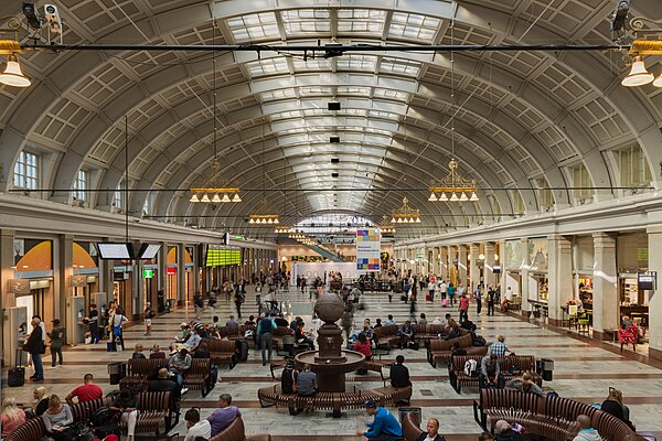
{"label": "curved wooden bench just left of the black bin on the right", "polygon": [[[448,366],[448,377],[450,385],[458,394],[463,386],[476,387],[479,385],[478,376],[469,376],[465,374],[465,364],[469,359],[474,359],[478,372],[480,373],[480,362],[485,355],[456,355],[452,357],[452,363]],[[501,375],[504,381],[509,381],[525,372],[535,374],[535,357],[533,355],[508,355],[499,358]],[[510,374],[511,367],[513,373]],[[536,384],[543,386],[543,379],[540,375],[535,375]]]}

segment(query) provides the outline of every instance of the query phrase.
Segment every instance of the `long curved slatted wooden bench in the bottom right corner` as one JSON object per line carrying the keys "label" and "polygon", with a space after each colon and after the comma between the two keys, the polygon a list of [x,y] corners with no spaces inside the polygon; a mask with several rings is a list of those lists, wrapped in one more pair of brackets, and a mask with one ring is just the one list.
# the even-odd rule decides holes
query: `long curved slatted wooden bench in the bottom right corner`
{"label": "long curved slatted wooden bench in the bottom right corner", "polygon": [[622,441],[628,437],[636,437],[628,424],[618,418],[567,398],[506,389],[483,389],[480,391],[480,402],[473,402],[473,417],[483,430],[493,432],[496,421],[506,420],[522,424],[528,434],[552,441],[565,441],[579,415],[590,417],[591,427],[605,441]]}

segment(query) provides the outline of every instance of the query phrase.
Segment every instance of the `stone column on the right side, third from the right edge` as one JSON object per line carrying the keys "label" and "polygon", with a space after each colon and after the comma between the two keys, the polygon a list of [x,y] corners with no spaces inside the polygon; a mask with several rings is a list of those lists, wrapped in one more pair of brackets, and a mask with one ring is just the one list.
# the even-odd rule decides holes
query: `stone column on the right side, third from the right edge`
{"label": "stone column on the right side, third from the right edge", "polygon": [[547,267],[549,324],[559,326],[560,306],[573,297],[573,243],[559,235],[547,236],[549,254]]}

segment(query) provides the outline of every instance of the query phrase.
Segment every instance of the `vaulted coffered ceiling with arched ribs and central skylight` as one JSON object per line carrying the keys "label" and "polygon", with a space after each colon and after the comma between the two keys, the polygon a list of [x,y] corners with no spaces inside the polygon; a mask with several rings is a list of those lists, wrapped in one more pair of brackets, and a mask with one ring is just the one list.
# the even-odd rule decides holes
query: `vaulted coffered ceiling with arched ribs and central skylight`
{"label": "vaulted coffered ceiling with arched ribs and central skylight", "polygon": [[[67,44],[161,45],[212,44],[214,34],[216,44],[605,44],[615,8],[611,0],[323,3],[56,2]],[[632,14],[662,12],[658,0],[632,3]],[[20,1],[3,1],[0,18],[20,18],[19,9]],[[28,42],[26,30],[22,35]],[[618,186],[613,150],[637,146],[651,170],[662,161],[661,92],[620,86],[622,54],[453,56],[451,67],[449,53],[431,52],[302,60],[268,50],[28,51],[20,60],[33,85],[0,87],[0,190],[11,190],[13,164],[28,149],[42,158],[41,187],[71,190],[77,171],[87,170],[92,186],[107,190],[92,195],[90,207],[111,209],[124,175],[125,117],[132,213],[148,200],[149,214],[163,222],[263,237],[273,228],[256,228],[246,217],[264,198],[291,225],[329,212],[380,222],[406,196],[424,223],[398,235],[419,236],[536,213],[541,195],[532,186],[555,187],[557,207],[572,206],[577,201],[564,189],[579,164],[594,186]],[[341,103],[340,111],[327,109],[331,100]],[[241,186],[238,204],[189,202],[189,186],[211,175],[214,114],[222,175]],[[448,173],[453,149],[460,173],[478,180],[476,204],[427,202],[423,189]],[[618,195],[596,192],[597,200]],[[68,192],[33,196],[71,202]]]}

